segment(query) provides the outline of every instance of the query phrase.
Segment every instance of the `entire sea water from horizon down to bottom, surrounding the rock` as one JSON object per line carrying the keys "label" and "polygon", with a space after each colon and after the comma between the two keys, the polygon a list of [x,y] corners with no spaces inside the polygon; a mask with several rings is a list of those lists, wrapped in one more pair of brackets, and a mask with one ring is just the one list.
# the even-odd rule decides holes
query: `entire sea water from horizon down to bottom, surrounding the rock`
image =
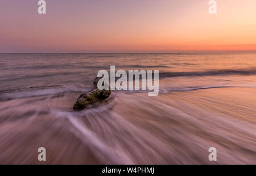
{"label": "entire sea water from horizon down to bottom, surrounding the rock", "polygon": [[[100,70],[159,70],[159,96],[72,105]],[[256,164],[256,53],[0,54],[0,163]],[[208,149],[217,148],[217,161]]]}

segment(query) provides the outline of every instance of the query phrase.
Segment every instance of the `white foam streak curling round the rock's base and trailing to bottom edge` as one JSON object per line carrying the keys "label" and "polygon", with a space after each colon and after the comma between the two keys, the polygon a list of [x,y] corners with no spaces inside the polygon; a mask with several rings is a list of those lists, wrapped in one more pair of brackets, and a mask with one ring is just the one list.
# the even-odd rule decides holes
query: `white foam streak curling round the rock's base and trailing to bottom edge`
{"label": "white foam streak curling round the rock's base and trailing to bottom edge", "polygon": [[108,110],[112,106],[113,102],[98,108],[75,112],[52,109],[51,114],[57,118],[67,118],[74,128],[71,132],[101,161],[110,161],[112,164],[134,164],[133,160],[131,160],[130,156],[125,151],[106,143],[100,136],[90,130],[81,119],[81,117],[86,117],[86,115],[90,113],[99,113],[100,111]]}

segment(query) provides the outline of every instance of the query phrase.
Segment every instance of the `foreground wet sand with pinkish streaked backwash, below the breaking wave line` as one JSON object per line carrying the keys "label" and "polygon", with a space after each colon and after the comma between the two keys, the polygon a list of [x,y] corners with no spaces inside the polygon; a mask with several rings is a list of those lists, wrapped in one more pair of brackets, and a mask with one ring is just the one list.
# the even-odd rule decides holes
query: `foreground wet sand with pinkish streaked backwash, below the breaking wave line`
{"label": "foreground wet sand with pinkish streaked backwash, below the breaking wave line", "polygon": [[79,93],[2,101],[0,163],[42,164],[37,149],[45,147],[46,164],[255,164],[255,95],[255,88],[115,91],[79,112],[72,111]]}

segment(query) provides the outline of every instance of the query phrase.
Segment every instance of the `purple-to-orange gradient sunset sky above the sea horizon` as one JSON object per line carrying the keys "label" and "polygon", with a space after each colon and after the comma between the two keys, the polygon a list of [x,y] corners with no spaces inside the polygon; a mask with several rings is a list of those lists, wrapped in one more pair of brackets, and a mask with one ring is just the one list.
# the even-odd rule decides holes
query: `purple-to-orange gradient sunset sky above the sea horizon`
{"label": "purple-to-orange gradient sunset sky above the sea horizon", "polygon": [[0,52],[256,50],[256,1],[0,0]]}

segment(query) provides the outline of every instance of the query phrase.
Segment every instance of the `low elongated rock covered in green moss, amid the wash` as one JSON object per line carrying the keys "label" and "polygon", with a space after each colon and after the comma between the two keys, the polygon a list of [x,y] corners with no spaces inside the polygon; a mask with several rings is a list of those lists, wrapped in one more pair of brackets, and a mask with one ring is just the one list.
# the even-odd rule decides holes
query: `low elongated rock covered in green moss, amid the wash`
{"label": "low elongated rock covered in green moss, amid the wash", "polygon": [[102,90],[94,89],[93,91],[83,93],[77,99],[75,104],[73,105],[73,110],[82,110],[85,109],[88,105],[100,103],[111,95],[110,90]]}

